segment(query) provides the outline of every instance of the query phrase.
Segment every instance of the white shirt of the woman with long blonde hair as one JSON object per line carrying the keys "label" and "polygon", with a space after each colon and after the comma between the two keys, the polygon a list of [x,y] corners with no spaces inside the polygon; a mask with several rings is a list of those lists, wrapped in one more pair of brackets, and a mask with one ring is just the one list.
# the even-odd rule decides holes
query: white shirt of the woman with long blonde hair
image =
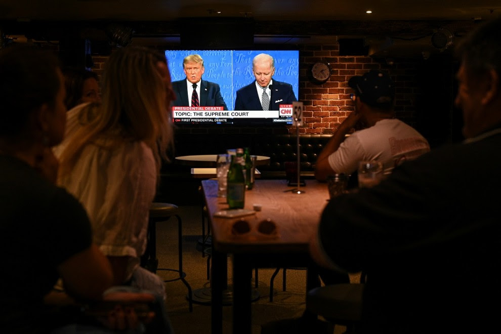
{"label": "white shirt of the woman with long blonde hair", "polygon": [[[62,147],[78,128],[75,120],[85,106],[78,105],[67,112],[72,132],[66,133]],[[58,155],[61,150],[55,152]],[[156,178],[153,152],[144,142],[123,140],[111,146],[108,139],[102,139],[86,145],[71,173],[59,180],[59,185],[86,208],[93,241],[103,254],[130,257],[126,280],[139,266],[146,249]]]}

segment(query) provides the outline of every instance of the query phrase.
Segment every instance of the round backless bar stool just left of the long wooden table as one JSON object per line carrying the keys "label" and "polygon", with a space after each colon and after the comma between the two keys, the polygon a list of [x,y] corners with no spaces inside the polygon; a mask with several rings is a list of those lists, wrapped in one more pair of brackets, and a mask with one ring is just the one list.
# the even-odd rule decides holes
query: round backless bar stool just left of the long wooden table
{"label": "round backless bar stool just left of the long wooden table", "polygon": [[[178,269],[170,268],[158,268],[158,259],[156,258],[156,223],[164,222],[171,218],[172,216],[178,219]],[[156,273],[159,270],[164,271],[174,271],[179,273],[179,277],[173,279],[166,279],[164,282],[172,282],[181,280],[184,285],[188,288],[188,302],[190,307],[190,312],[193,311],[193,301],[191,286],[185,280],[186,273],[183,271],[183,233],[182,233],[182,222],[179,216],[179,208],[177,205],[171,203],[158,203],[153,202],[150,206],[150,218],[148,224],[148,243],[146,245],[146,252],[141,258],[141,265],[148,269],[149,271]]]}

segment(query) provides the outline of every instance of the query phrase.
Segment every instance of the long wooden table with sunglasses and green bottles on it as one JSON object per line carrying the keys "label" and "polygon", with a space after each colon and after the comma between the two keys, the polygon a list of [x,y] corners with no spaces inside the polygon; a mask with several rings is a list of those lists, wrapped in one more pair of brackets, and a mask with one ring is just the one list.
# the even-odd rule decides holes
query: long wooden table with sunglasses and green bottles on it
{"label": "long wooden table with sunglasses and green bottles on it", "polygon": [[[214,213],[228,204],[217,197],[217,180],[202,181],[208,216],[212,226],[212,333],[222,331],[222,291],[225,288],[227,254],[233,256],[233,333],[251,333],[251,277],[255,267],[308,267],[308,242],[316,231],[320,214],[329,198],[327,185],[307,180],[305,192],[289,191],[285,180],[256,180],[245,192],[245,209],[260,204],[262,210],[242,217],[251,231],[235,235],[232,226],[241,218],[216,218]],[[276,235],[258,232],[258,225],[270,219]],[[311,277],[311,276],[309,276]],[[307,279],[313,282],[311,278]]]}

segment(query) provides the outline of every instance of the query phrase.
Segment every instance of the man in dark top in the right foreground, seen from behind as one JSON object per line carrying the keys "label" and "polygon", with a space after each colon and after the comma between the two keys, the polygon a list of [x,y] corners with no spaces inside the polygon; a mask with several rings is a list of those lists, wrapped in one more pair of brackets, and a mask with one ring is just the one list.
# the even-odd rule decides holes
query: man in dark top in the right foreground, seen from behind
{"label": "man in dark top in the right foreground, seen from behind", "polygon": [[501,306],[501,19],[458,48],[466,141],[331,200],[312,257],[367,274],[362,333],[489,332]]}

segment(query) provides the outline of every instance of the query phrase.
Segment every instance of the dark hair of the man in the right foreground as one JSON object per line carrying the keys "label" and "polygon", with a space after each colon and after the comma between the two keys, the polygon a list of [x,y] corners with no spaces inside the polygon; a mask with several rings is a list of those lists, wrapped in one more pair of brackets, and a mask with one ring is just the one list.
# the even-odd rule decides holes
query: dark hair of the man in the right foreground
{"label": "dark hair of the man in the right foreground", "polygon": [[456,47],[469,73],[494,69],[501,76],[501,17],[481,23]]}

